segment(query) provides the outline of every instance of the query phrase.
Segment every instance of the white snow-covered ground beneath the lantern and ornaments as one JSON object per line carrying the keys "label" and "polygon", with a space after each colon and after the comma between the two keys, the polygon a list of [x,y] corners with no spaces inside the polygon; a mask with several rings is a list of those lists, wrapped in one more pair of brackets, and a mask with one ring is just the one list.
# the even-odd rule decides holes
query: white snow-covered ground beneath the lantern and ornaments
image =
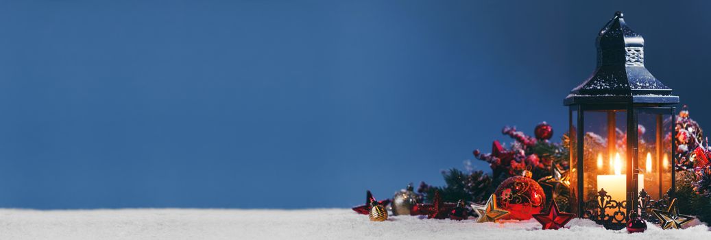
{"label": "white snow-covered ground beneath the lantern and ornaments", "polygon": [[711,239],[708,227],[695,224],[683,230],[650,224],[644,233],[628,234],[582,219],[560,230],[540,230],[535,220],[477,224],[391,216],[370,222],[351,209],[0,209],[0,239]]}

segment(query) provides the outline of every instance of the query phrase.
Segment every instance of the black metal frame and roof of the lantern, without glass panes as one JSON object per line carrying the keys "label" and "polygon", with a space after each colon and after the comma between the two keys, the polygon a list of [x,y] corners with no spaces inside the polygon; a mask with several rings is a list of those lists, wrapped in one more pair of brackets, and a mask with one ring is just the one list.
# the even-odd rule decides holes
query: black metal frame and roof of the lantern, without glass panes
{"label": "black metal frame and roof of the lantern, without glass panes", "polygon": [[[648,193],[639,189],[639,139],[638,124],[640,114],[656,114],[656,160],[662,163],[663,117],[670,116],[670,124],[675,123],[675,107],[679,97],[671,94],[671,89],[658,81],[644,67],[644,40],[626,25],[621,12],[604,26],[597,37],[597,69],[589,79],[571,91],[564,104],[569,107],[570,121],[570,156],[571,169],[571,209],[578,217],[592,219],[608,229],[622,229],[631,213],[639,214],[650,204],[663,204],[663,174],[666,172],[658,167],[658,200],[650,200]],[[611,139],[615,137],[617,111],[626,112],[626,200],[612,200],[607,192],[598,189],[597,194],[584,199],[584,116],[590,111],[607,112],[608,150],[614,148]],[[675,128],[670,127],[675,136]],[[673,149],[674,141],[670,141],[670,189],[675,189],[674,166],[676,163]],[[575,152],[573,152],[575,151]],[[575,158],[575,159],[573,159]],[[573,165],[573,163],[575,165]],[[599,187],[599,186],[598,186]],[[597,190],[596,190],[597,191]],[[641,191],[641,192],[640,192]],[[612,209],[609,214],[606,209]],[[642,212],[642,214],[644,214]]]}

